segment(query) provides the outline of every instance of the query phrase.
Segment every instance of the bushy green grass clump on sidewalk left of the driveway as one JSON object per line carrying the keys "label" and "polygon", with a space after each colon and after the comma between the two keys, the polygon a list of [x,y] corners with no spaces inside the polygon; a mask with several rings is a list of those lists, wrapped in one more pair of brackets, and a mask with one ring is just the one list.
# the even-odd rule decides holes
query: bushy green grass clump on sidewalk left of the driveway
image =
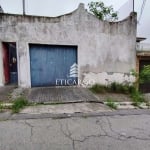
{"label": "bushy green grass clump on sidewalk left of the driveway", "polygon": [[13,101],[12,112],[18,113],[21,109],[28,105],[28,101],[24,97],[19,97]]}

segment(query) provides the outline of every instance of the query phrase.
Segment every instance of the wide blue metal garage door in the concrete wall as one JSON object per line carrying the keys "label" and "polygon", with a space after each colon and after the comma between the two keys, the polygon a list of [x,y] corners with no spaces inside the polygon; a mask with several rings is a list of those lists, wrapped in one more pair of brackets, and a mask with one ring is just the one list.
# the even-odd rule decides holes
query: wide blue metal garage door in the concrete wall
{"label": "wide blue metal garage door in the concrete wall", "polygon": [[30,44],[31,86],[77,84],[77,47]]}

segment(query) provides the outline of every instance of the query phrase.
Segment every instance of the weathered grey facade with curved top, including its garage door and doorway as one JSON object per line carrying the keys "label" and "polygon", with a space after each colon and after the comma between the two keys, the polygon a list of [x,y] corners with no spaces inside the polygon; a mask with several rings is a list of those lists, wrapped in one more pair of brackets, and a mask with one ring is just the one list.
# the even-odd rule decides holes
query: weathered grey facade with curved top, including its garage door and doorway
{"label": "weathered grey facade with curved top, including its garage door and doorway", "polygon": [[100,21],[84,9],[59,17],[0,14],[0,85],[133,82],[136,15]]}

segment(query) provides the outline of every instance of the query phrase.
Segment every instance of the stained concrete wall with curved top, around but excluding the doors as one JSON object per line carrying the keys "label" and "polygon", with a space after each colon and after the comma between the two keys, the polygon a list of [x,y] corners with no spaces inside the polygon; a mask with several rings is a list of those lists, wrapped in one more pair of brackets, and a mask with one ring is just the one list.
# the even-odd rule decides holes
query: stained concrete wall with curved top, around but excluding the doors
{"label": "stained concrete wall with curved top, around but excluding the doors", "polygon": [[[136,16],[131,14],[120,22],[103,22],[82,4],[74,12],[56,18],[0,14],[0,41],[17,43],[21,87],[31,86],[29,43],[77,45],[82,85],[87,85],[87,80],[104,84],[130,81],[129,72],[136,64]],[[2,60],[2,54],[0,57]],[[2,66],[0,61],[1,84]]]}

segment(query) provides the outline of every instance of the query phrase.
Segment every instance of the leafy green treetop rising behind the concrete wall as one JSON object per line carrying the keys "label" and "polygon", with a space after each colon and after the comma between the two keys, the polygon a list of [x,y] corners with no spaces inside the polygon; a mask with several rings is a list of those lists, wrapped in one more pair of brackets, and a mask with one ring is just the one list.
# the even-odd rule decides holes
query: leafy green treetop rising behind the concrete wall
{"label": "leafy green treetop rising behind the concrete wall", "polygon": [[100,20],[115,21],[118,19],[117,12],[114,11],[113,7],[105,6],[102,1],[90,2],[88,6],[90,12]]}

